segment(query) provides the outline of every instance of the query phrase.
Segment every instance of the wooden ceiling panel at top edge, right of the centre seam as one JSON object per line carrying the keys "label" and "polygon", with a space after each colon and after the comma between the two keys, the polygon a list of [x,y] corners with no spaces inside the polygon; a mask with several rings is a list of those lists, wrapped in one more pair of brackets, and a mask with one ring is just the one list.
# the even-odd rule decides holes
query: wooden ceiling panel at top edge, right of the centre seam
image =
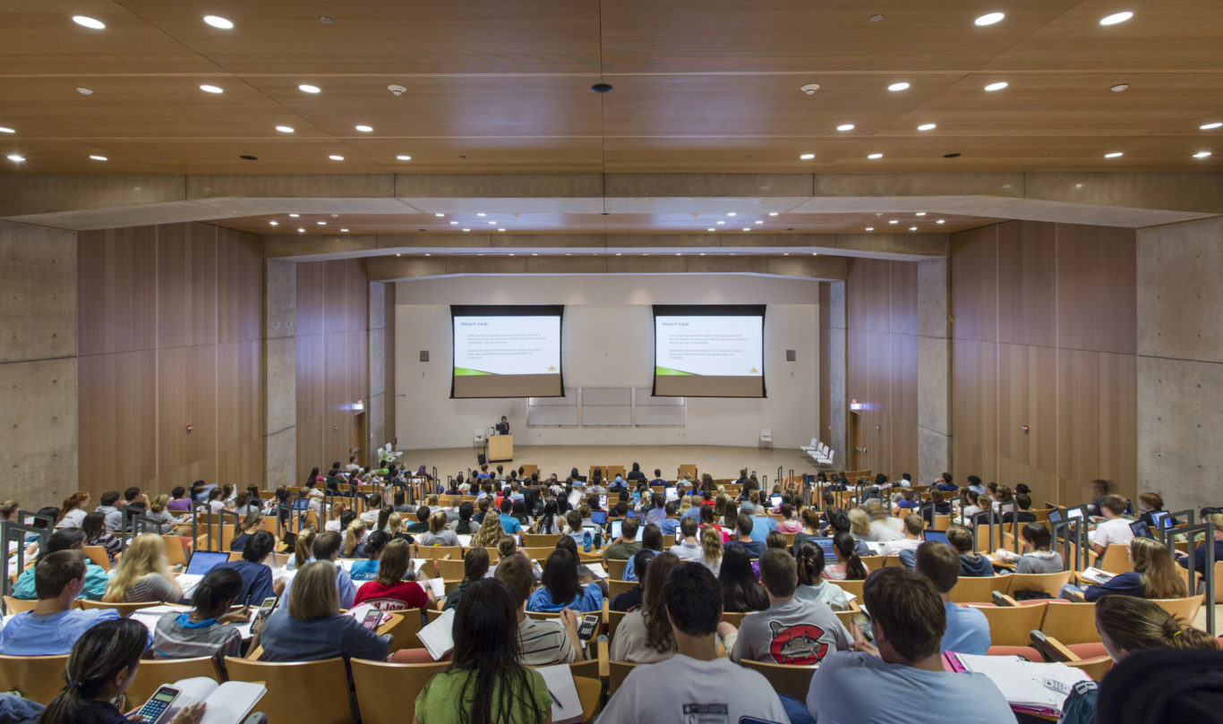
{"label": "wooden ceiling panel at top edge, right of the centre seam", "polygon": [[[805,82],[817,70],[969,71],[1077,1],[1008,4],[1005,23],[980,28],[972,21],[993,7],[976,0],[625,0],[603,6],[604,71],[804,72]],[[874,13],[883,20],[870,22]]]}

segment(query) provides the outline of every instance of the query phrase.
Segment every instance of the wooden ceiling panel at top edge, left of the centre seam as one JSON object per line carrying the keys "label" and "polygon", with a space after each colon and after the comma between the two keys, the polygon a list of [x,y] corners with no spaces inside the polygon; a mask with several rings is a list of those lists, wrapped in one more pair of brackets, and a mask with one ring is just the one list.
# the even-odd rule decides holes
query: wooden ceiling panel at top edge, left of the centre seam
{"label": "wooden ceiling panel at top edge, left of the centre seam", "polygon": [[[235,73],[598,72],[597,0],[124,0]],[[204,13],[235,23],[216,31]],[[319,22],[320,16],[333,20]]]}

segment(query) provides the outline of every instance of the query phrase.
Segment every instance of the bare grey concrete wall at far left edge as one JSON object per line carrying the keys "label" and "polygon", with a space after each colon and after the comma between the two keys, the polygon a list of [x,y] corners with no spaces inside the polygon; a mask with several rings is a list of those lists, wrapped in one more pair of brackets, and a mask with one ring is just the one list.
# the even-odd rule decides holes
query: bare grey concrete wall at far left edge
{"label": "bare grey concrete wall at far left edge", "polygon": [[0,499],[77,489],[76,232],[0,221]]}

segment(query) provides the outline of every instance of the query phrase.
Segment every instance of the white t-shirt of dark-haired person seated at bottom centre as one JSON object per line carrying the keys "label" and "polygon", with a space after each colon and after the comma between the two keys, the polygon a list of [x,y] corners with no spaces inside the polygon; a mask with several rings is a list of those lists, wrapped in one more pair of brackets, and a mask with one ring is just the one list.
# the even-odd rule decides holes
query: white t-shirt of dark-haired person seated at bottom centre
{"label": "white t-shirt of dark-haired person seated at bottom centre", "polygon": [[603,708],[598,724],[739,724],[740,717],[790,724],[763,674],[725,658],[701,662],[675,654],[635,668]]}

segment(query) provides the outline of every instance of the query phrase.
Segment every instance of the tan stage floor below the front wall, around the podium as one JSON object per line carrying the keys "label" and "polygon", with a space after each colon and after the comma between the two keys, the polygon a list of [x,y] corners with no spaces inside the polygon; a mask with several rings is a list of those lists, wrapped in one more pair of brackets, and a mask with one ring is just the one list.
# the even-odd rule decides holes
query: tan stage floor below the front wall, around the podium
{"label": "tan stage floor below the front wall, around the podium", "polygon": [[[437,467],[438,476],[459,472],[467,473],[477,467],[475,448],[449,448],[437,450],[404,450],[400,466],[416,470],[422,464],[429,468]],[[515,445],[514,460],[501,462],[505,470],[523,464],[538,465],[541,477],[556,473],[564,479],[570,468],[576,467],[586,475],[592,465],[623,465],[632,470],[632,464],[640,462],[641,470],[653,477],[654,468],[663,471],[663,477],[673,478],[681,464],[696,465],[698,472],[708,472],[714,478],[737,478],[739,470],[746,467],[756,471],[757,477],[768,476],[772,483],[777,477],[778,466],[785,476],[793,470],[795,475],[816,472],[816,466],[797,449],[758,450],[756,448],[734,448],[717,445]],[[490,464],[495,470],[498,464]]]}

